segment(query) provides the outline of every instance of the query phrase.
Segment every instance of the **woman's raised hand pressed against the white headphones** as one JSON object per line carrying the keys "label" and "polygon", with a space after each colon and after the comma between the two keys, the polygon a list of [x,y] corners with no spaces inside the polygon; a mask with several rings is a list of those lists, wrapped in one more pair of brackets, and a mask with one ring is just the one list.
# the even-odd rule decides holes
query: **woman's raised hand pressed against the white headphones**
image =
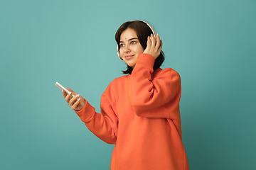
{"label": "woman's raised hand pressed against the white headphones", "polygon": [[154,57],[154,59],[156,59],[161,53],[162,45],[163,42],[162,40],[160,40],[159,35],[157,34],[156,37],[154,37],[154,35],[151,34],[150,37],[148,37],[147,39],[146,49],[143,53],[151,55]]}

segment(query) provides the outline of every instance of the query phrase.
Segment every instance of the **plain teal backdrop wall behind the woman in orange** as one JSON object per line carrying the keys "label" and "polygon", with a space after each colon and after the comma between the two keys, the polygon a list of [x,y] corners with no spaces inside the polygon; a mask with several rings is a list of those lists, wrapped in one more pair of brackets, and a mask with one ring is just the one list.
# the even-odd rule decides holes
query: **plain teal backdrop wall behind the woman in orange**
{"label": "plain teal backdrop wall behind the woman in orange", "polygon": [[100,111],[122,76],[114,34],[149,21],[164,67],[181,74],[190,169],[256,166],[256,1],[0,1],[0,169],[110,169],[95,137],[54,84]]}

